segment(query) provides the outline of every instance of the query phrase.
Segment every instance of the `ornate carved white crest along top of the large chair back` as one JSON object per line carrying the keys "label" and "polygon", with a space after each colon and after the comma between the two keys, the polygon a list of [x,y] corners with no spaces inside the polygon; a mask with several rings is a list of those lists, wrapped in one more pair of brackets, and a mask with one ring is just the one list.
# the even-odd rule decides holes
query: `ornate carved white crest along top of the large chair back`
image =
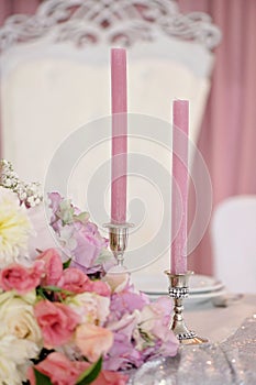
{"label": "ornate carved white crest along top of the large chair back", "polygon": [[10,16],[0,34],[1,52],[48,36],[79,47],[104,43],[131,46],[154,41],[156,32],[198,42],[209,50],[220,30],[202,12],[181,14],[175,0],[46,0],[35,15]]}

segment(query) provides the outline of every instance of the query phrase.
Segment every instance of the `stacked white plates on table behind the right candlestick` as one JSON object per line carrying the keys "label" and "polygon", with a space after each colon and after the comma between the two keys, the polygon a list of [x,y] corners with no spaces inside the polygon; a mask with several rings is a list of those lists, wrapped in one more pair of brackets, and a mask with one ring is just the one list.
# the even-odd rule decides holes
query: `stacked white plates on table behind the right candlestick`
{"label": "stacked white plates on table behind the right candlestick", "polygon": [[[135,287],[146,294],[164,295],[168,292],[168,279],[165,276],[140,276],[132,275]],[[213,277],[201,274],[193,274],[189,279],[190,295],[216,292],[223,288],[223,284]]]}

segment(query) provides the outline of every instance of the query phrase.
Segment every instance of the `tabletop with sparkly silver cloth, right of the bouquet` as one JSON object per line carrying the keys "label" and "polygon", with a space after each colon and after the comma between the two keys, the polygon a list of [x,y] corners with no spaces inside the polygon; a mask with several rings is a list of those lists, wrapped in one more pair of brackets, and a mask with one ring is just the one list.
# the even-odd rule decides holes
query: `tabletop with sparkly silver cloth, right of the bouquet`
{"label": "tabletop with sparkly silver cloth, right of the bouquet", "polygon": [[145,363],[131,376],[131,385],[256,384],[256,295],[188,305],[185,318],[209,342],[180,345],[175,358]]}

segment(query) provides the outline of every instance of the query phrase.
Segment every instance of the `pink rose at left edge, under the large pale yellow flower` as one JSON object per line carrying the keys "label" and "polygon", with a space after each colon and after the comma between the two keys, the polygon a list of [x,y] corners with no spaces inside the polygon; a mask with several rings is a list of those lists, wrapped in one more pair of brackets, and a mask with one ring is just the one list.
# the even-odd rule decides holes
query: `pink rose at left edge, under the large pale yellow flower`
{"label": "pink rose at left edge, under the large pale yellow flower", "polygon": [[25,294],[40,285],[44,273],[44,265],[36,261],[32,267],[11,264],[0,272],[0,287],[3,290],[15,289],[19,294]]}

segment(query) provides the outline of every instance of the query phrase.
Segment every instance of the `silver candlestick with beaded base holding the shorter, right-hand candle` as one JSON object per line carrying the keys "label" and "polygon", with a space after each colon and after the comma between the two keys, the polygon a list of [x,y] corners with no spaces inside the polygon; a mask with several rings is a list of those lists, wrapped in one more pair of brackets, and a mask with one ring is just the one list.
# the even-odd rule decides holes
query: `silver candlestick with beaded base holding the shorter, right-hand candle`
{"label": "silver candlestick with beaded base holding the shorter, right-hand candle", "polygon": [[188,280],[192,272],[185,274],[172,274],[168,271],[165,274],[169,278],[169,296],[174,300],[174,316],[170,322],[170,329],[181,344],[199,344],[208,342],[207,339],[198,337],[186,326],[183,319],[183,299],[189,296]]}

